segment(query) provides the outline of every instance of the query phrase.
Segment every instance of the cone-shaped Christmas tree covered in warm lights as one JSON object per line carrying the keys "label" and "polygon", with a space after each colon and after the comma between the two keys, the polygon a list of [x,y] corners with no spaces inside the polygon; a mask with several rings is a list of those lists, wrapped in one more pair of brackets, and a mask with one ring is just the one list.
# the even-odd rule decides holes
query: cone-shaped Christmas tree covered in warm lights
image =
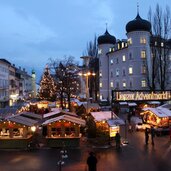
{"label": "cone-shaped Christmas tree covered in warm lights", "polygon": [[49,101],[56,100],[56,84],[54,79],[50,75],[48,66],[46,66],[40,81],[39,98],[41,100]]}

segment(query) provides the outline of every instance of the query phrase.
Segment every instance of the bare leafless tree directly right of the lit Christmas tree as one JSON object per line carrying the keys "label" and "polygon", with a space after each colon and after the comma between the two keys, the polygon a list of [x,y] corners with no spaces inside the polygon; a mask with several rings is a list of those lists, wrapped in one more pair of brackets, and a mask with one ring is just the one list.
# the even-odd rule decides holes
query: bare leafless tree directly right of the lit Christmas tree
{"label": "bare leafless tree directly right of the lit Christmas tree", "polygon": [[80,90],[78,64],[75,63],[74,57],[69,56],[64,57],[61,61],[50,59],[50,66],[57,82],[61,107],[64,108],[67,99],[68,108],[71,111],[71,97],[78,95]]}

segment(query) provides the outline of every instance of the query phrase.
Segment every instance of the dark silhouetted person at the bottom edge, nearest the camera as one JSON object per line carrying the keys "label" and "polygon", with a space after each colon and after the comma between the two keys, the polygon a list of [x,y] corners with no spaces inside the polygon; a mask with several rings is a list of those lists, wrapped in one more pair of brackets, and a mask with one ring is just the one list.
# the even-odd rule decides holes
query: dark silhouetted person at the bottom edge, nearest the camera
{"label": "dark silhouetted person at the bottom edge, nearest the camera", "polygon": [[92,151],[89,153],[89,157],[87,158],[87,165],[88,171],[96,171],[97,158]]}

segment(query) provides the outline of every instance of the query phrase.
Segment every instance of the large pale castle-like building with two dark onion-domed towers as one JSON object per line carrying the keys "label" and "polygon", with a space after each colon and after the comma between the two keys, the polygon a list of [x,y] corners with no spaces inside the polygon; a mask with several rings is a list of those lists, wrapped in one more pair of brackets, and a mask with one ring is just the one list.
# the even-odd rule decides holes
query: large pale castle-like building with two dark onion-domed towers
{"label": "large pale castle-like building with two dark onion-domed towers", "polygon": [[[126,32],[127,39],[123,40],[116,40],[107,30],[98,37],[100,100],[110,101],[112,90],[150,90],[153,72],[151,23],[137,14],[127,23]],[[168,68],[167,72],[171,70]],[[171,82],[166,89],[171,89]]]}

